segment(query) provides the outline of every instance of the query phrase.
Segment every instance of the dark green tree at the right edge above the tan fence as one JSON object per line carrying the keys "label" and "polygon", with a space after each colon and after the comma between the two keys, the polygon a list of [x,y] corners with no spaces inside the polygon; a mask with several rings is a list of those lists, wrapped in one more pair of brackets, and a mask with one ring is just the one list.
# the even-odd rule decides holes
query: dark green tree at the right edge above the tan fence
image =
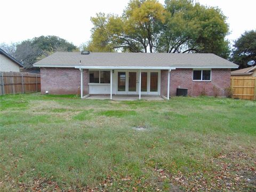
{"label": "dark green tree at the right edge above the tan fence", "polygon": [[248,61],[256,61],[256,30],[245,31],[235,41],[234,47],[232,60],[239,68],[248,67]]}

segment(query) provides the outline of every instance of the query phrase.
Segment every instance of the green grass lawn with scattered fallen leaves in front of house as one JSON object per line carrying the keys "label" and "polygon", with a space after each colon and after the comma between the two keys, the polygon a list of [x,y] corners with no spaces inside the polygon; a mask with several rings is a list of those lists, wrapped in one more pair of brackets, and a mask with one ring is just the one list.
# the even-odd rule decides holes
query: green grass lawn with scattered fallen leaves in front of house
{"label": "green grass lawn with scattered fallen leaves in front of house", "polygon": [[1,96],[1,191],[256,190],[256,102]]}

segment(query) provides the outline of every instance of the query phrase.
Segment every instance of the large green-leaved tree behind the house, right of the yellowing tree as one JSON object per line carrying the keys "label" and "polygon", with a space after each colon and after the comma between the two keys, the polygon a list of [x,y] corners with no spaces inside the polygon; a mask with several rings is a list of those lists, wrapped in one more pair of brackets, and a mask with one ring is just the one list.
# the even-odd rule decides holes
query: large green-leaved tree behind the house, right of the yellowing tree
{"label": "large green-leaved tree behind the house, right of the yellowing tree", "polygon": [[226,17],[221,10],[189,0],[166,0],[166,22],[157,50],[167,53],[215,53],[229,55]]}

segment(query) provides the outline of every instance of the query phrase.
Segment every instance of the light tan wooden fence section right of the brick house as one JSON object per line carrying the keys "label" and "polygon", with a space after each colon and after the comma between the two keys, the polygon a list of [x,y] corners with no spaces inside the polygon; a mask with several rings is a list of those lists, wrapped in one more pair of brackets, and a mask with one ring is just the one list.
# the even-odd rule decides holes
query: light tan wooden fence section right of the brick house
{"label": "light tan wooden fence section right of the brick house", "polygon": [[255,100],[256,77],[230,77],[231,87],[234,90],[233,98]]}

